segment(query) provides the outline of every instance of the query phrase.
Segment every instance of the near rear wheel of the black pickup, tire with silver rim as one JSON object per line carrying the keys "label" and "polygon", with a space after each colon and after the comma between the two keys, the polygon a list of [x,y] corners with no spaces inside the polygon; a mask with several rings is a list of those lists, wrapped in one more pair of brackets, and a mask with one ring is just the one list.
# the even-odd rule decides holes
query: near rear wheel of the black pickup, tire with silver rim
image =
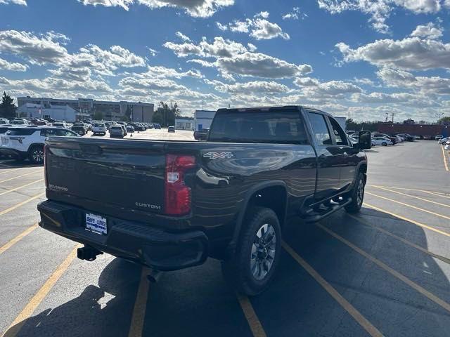
{"label": "near rear wheel of the black pickup, tire with silver rim", "polygon": [[[266,239],[261,245],[258,234]],[[280,256],[278,217],[271,209],[253,207],[245,217],[235,253],[231,259],[222,261],[222,273],[237,291],[255,296],[262,293],[274,278]]]}

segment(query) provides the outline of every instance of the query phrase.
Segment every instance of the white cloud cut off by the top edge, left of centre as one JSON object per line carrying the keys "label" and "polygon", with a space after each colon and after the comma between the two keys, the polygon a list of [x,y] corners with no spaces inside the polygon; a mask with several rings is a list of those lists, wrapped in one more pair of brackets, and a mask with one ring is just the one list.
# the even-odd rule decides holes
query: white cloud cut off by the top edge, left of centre
{"label": "white cloud cut off by the top edge, left of centre", "polygon": [[[17,0],[16,0],[17,1]],[[141,4],[149,8],[183,8],[188,15],[208,18],[221,7],[232,6],[234,0],[79,0],[84,5],[120,6],[128,11],[132,4]]]}

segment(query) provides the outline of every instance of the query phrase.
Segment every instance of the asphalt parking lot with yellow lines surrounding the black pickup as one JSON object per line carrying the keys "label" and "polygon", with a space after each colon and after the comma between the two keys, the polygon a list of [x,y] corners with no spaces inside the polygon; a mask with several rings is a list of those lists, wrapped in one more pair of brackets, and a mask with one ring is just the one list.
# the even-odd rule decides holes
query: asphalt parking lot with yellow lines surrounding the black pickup
{"label": "asphalt parking lot with yellow lines surrounding the black pickup", "polygon": [[0,161],[0,336],[450,334],[450,172],[434,141],[368,150],[361,213],[291,220],[278,275],[254,298],[216,260],[156,284],[108,254],[77,260],[75,242],[37,227],[43,179],[41,166]]}

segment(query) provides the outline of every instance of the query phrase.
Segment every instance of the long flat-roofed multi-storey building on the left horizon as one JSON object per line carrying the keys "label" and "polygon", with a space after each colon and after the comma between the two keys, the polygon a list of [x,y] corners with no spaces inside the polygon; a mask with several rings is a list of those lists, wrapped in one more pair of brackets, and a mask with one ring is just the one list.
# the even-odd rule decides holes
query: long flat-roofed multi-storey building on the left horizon
{"label": "long flat-roofed multi-storey building on the left horizon", "polygon": [[[50,114],[59,110],[75,110],[76,119],[65,119],[67,121],[75,121],[77,119],[84,119],[86,117],[94,118],[94,114],[101,113],[103,119],[108,121],[120,121],[124,116],[129,114],[133,121],[150,122],[153,118],[154,106],[153,103],[143,102],[127,102],[121,100],[120,102],[108,101],[108,100],[94,100],[91,98],[78,98],[76,100],[60,99],[60,98],[34,98],[34,97],[18,97],[18,111],[20,108],[30,113],[32,106],[36,107],[35,110],[39,114],[41,111],[41,118],[44,118],[43,112],[46,111]],[[73,114],[73,112],[70,112]],[[34,117],[27,114],[26,117]]]}

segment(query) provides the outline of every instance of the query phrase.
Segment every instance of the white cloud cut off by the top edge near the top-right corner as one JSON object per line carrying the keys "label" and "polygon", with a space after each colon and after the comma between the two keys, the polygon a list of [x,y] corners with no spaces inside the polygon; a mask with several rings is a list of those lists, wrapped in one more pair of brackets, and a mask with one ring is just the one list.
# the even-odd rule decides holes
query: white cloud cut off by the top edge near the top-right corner
{"label": "white cloud cut off by the top edge near the top-right corner", "polygon": [[[449,1],[449,0],[446,0]],[[436,13],[440,10],[440,0],[318,0],[319,8],[331,14],[344,11],[360,11],[370,15],[373,29],[380,33],[389,32],[387,18],[396,6],[413,13]]]}

